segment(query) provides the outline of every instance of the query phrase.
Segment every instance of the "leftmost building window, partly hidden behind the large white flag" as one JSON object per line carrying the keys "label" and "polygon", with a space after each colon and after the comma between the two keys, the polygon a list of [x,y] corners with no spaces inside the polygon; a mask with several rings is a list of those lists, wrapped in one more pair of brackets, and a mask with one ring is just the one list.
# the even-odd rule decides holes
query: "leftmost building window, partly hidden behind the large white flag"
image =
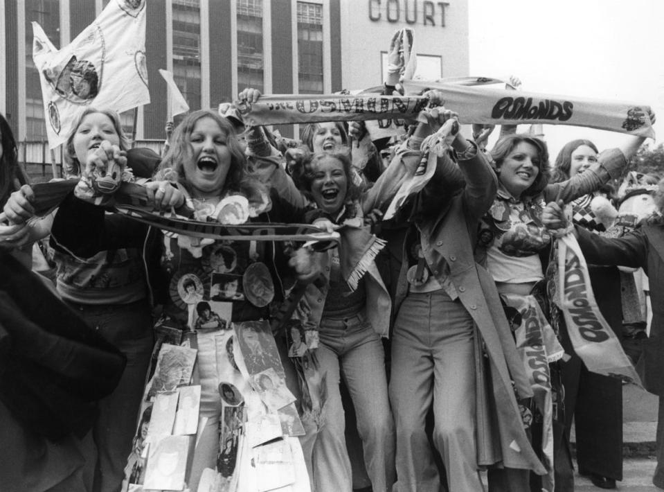
{"label": "leftmost building window, partly hidden behind the large white flag", "polygon": [[60,0],[26,0],[26,139],[46,140],[44,99],[33,62],[33,26],[37,21],[53,45],[60,46]]}

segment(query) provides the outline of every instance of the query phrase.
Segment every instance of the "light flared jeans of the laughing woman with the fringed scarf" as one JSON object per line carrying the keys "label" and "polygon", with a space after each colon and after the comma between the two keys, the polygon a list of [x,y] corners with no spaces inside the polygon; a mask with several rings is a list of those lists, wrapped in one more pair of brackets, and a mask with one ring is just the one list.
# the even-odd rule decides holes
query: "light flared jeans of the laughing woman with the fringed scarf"
{"label": "light flared jeans of the laughing woman with the fringed scarf", "polygon": [[316,349],[326,374],[325,424],[313,446],[316,492],[350,492],[352,472],[346,450],[346,419],[341,404],[341,377],[348,387],[364,445],[364,462],[375,492],[392,489],[394,423],[387,392],[385,353],[380,337],[364,315],[323,319]]}

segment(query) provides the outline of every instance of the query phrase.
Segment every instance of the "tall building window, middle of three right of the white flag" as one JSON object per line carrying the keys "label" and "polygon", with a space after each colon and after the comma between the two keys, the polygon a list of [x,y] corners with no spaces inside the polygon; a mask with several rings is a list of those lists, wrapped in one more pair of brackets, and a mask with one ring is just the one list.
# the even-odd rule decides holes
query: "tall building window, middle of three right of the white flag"
{"label": "tall building window, middle of three right of the white flag", "polygon": [[237,1],[237,87],[263,91],[263,2]]}

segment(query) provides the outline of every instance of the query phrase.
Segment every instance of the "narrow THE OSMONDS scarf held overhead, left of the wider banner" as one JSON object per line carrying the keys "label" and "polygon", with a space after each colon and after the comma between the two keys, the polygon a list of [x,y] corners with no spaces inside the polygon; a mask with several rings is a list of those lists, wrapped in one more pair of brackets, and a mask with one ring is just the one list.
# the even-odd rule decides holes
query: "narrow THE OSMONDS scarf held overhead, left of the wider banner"
{"label": "narrow THE OSMONDS scarf held overhead, left of the wider banner", "polygon": [[427,107],[423,97],[285,94],[236,103],[245,125],[320,123],[323,121],[415,120]]}

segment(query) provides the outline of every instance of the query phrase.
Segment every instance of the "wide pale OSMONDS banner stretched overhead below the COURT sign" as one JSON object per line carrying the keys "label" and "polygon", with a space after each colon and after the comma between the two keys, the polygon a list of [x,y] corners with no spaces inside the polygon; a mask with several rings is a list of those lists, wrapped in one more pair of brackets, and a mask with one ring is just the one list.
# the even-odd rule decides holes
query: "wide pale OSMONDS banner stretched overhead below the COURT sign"
{"label": "wide pale OSMONDS banner stretched overhead below the COURT sign", "polygon": [[506,89],[480,89],[424,80],[406,80],[404,87],[406,94],[418,94],[422,89],[439,89],[445,94],[445,108],[458,112],[462,123],[573,125],[655,137],[648,116],[649,105]]}

